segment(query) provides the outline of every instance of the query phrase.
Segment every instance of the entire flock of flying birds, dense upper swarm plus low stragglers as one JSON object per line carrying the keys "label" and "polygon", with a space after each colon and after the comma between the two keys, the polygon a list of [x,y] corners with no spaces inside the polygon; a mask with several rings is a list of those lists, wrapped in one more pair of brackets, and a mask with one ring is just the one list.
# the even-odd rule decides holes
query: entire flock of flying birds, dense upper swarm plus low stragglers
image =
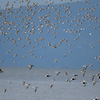
{"label": "entire flock of flying birds, dense upper swarm plus low stragglers", "polygon": [[[75,28],[74,29],[63,29],[63,32],[66,32],[66,33],[79,33],[79,36],[81,35],[81,31],[84,31],[85,28],[84,27],[81,27],[82,24],[84,23],[84,21],[86,22],[94,22],[94,23],[98,23],[100,22],[100,19],[98,18],[98,16],[96,15],[92,15],[93,12],[96,11],[95,9],[95,6],[98,6],[99,4],[94,4],[94,6],[92,6],[91,8],[90,7],[87,7],[87,8],[84,8],[82,7],[79,11],[78,11],[78,16],[81,16],[81,12],[84,11],[84,10],[90,10],[89,12],[86,12],[85,14],[86,15],[83,15],[81,17],[77,17],[76,15],[71,15],[73,13],[73,11],[71,11],[71,7],[68,6],[69,2],[66,2],[66,4],[59,4],[58,7],[55,7],[53,6],[54,4],[54,1],[51,1],[51,0],[48,0],[48,2],[45,2],[45,7],[42,7],[42,8],[38,8],[38,3],[32,3],[32,5],[30,5],[30,0],[22,0],[22,1],[19,1],[19,4],[22,4],[23,2],[26,2],[27,3],[27,9],[26,9],[26,15],[24,15],[24,9],[23,9],[23,6],[20,5],[19,8],[13,12],[13,8],[14,8],[14,5],[16,4],[16,2],[18,2],[19,0],[16,0],[13,2],[13,4],[10,6],[9,5],[9,1],[6,3],[5,5],[5,8],[4,10],[1,10],[0,12],[0,17],[3,19],[2,21],[2,25],[0,25],[0,35],[1,36],[8,36],[6,38],[7,41],[11,41],[12,44],[14,44],[14,46],[17,46],[18,42],[16,40],[16,37],[19,36],[17,39],[18,41],[23,41],[23,39],[26,39],[28,42],[27,44],[30,45],[33,43],[33,40],[31,39],[32,38],[32,35],[35,34],[35,31],[38,30],[39,31],[39,34],[42,34],[45,30],[47,29],[46,33],[49,33],[51,32],[51,30],[53,30],[53,33],[55,36],[53,36],[54,39],[57,38],[57,34],[60,34],[58,31],[56,31],[58,29],[58,26],[59,26],[59,23],[60,24],[66,24],[66,23],[69,23],[71,22],[71,24],[69,24],[68,26],[71,27],[73,26],[73,23],[74,21],[77,21],[77,23],[75,24]],[[61,0],[63,1],[63,0]],[[66,0],[64,0],[66,1]],[[69,0],[70,2],[72,0]],[[85,4],[87,5],[90,5],[90,2],[88,1],[84,1]],[[78,1],[75,1],[75,4],[78,4]],[[10,6],[10,8],[9,8]],[[62,11],[60,11],[60,8],[64,8],[63,9],[63,12],[67,15],[66,16],[62,16],[61,13]],[[49,11],[50,9],[53,9],[53,12],[55,12],[55,17],[53,16],[50,16],[50,14],[52,13],[51,11]],[[42,13],[44,14],[44,12],[47,12],[45,15],[41,15]],[[14,13],[14,14],[13,14]],[[35,18],[35,14],[37,13],[40,13],[40,16],[39,17],[36,17]],[[31,15],[30,15],[31,14]],[[12,20],[17,20],[18,18],[18,23],[16,24],[14,21],[9,21],[11,19],[9,19],[10,16],[13,16]],[[68,18],[72,17],[73,16],[73,19],[72,20],[68,20]],[[52,21],[50,19],[54,18],[54,22],[52,23]],[[67,19],[66,22],[63,21],[63,19]],[[35,23],[34,20],[37,21],[37,23],[39,22],[39,24],[37,25],[37,23]],[[61,20],[62,19],[62,20]],[[20,22],[19,22],[20,20]],[[82,23],[83,22],[83,23]],[[21,26],[22,25],[22,26]],[[79,28],[77,30],[77,27],[80,26],[81,28]],[[20,28],[19,28],[20,27]],[[88,25],[88,28],[91,27],[91,24]],[[50,29],[51,30],[50,30]],[[22,29],[22,30],[21,30]],[[94,30],[96,29],[99,29],[100,30],[100,25],[98,26],[95,26],[93,27]],[[15,32],[15,37],[11,37],[10,35],[13,34],[12,32]],[[25,36],[25,37],[21,37],[20,32],[22,32],[22,34]],[[93,36],[93,33],[90,32],[89,33],[90,36]],[[74,38],[74,41],[78,40],[79,39],[79,36]],[[34,36],[33,36],[34,38]],[[1,41],[2,39],[0,39]],[[35,38],[35,43],[36,45],[39,45],[41,43],[39,43],[40,41],[44,41],[45,42],[46,38],[45,37],[39,37],[39,38]],[[100,42],[99,39],[95,39],[97,42]],[[4,43],[5,41],[2,40],[2,43]],[[60,40],[60,43],[58,44],[58,46],[62,45],[62,43],[65,42],[67,43],[68,42],[68,39],[66,39],[65,37],[62,38]],[[92,45],[92,48],[94,48],[93,46],[93,43],[91,43]],[[22,44],[22,48],[25,48],[26,44]],[[53,44],[52,45],[52,42],[49,42],[48,41],[48,46],[51,46],[52,48],[57,48],[57,45],[56,44]],[[72,46],[72,44],[70,43],[69,44],[69,47]],[[32,48],[35,49],[35,46],[32,45]],[[46,49],[47,46],[40,46],[40,48],[44,48]],[[7,53],[11,53],[13,50],[10,49]],[[29,50],[28,53],[31,53],[31,55],[33,56],[34,54],[32,53],[34,50]],[[69,53],[71,53],[72,50],[69,51]],[[17,57],[17,53],[14,54],[14,57]],[[66,57],[67,55],[65,54],[64,57]],[[24,58],[26,58],[26,55],[23,55]],[[36,56],[33,56],[33,58],[36,58]],[[40,56],[40,58],[43,58],[43,56]],[[95,56],[96,59],[100,59],[100,56]],[[54,58],[54,62],[57,62],[57,58]],[[3,60],[0,61],[1,63],[3,63]],[[16,63],[16,61],[14,61],[14,63]],[[28,65],[29,69],[31,70],[32,67],[34,65]],[[92,63],[90,66],[93,66]],[[88,66],[83,66],[83,70],[81,71],[82,74],[83,74],[83,77],[85,75],[85,72],[86,72],[86,69],[87,69]],[[0,69],[0,73],[2,73],[2,69]],[[56,71],[55,72],[57,75],[59,75],[60,71]],[[65,72],[65,75],[67,75],[67,72]],[[46,77],[50,77],[51,75],[49,75],[48,73],[45,75]],[[75,74],[74,76],[77,76],[77,74]],[[100,73],[97,74],[98,78],[100,78]],[[91,75],[92,77],[92,82],[93,82],[93,86],[96,84],[97,81],[94,81],[94,77],[95,75]],[[66,81],[67,82],[70,82],[71,80],[76,80],[76,78],[72,77],[71,79],[67,79]],[[52,81],[55,81],[55,79],[53,79]],[[26,85],[26,89],[30,86],[30,84],[25,84],[25,81],[22,81],[22,84],[23,85]],[[85,80],[83,80],[82,84],[84,84],[84,86],[86,86],[87,82]],[[53,84],[50,85],[50,87],[52,88],[53,87]],[[38,87],[33,87],[35,89],[35,92],[37,91],[37,88]],[[6,89],[4,89],[4,92],[6,92]],[[97,97],[95,100],[99,100]]]}

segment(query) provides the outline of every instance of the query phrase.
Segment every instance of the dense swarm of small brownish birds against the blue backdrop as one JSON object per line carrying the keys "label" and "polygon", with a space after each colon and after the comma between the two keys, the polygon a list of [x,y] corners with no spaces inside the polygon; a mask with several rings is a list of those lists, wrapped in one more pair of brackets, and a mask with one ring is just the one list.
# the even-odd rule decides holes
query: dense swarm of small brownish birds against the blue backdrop
{"label": "dense swarm of small brownish birds against the blue backdrop", "polygon": [[[45,6],[43,7],[38,6],[38,3],[31,2],[30,0],[15,0],[12,4],[9,4],[9,1],[6,2],[4,5],[5,8],[0,10],[0,19],[2,21],[0,23],[0,44],[6,43],[6,45],[9,45],[10,49],[5,53],[7,53],[9,57],[13,55],[13,63],[18,63],[17,58],[20,59],[19,57],[21,57],[19,52],[25,52],[22,56],[24,59],[29,57],[30,53],[33,58],[37,59],[36,51],[38,53],[41,52],[39,55],[42,59],[45,58],[42,52],[43,49],[47,51],[50,47],[58,49],[64,43],[66,43],[66,47],[69,43],[67,48],[73,47],[73,44],[69,42],[71,37],[67,38],[68,34],[73,34],[73,36],[75,34],[76,37],[73,38],[72,36],[72,38],[74,41],[77,41],[80,35],[82,35],[82,31],[88,29],[95,31],[100,30],[100,25],[98,24],[100,18],[98,15],[94,15],[98,10],[96,7],[98,7],[100,3],[91,6],[90,2],[82,1],[87,8],[83,6],[77,13],[74,13],[73,7],[69,6],[72,0],[69,0],[69,2],[66,0],[61,0],[61,2],[62,1],[65,1],[65,3],[55,5],[54,1],[48,0],[44,3]],[[26,8],[23,6],[24,2],[27,4]],[[14,8],[16,3],[19,3],[18,9]],[[78,3],[80,2],[75,1],[75,7],[78,6]],[[61,31],[59,29],[61,29]],[[62,33],[65,33],[66,37],[65,35],[63,37]],[[90,31],[88,34],[93,37],[95,33]],[[61,35],[61,38],[58,38],[59,35]],[[53,37],[51,38],[51,36]],[[100,42],[99,37],[96,38],[95,41]],[[38,49],[38,47],[40,47],[40,49]],[[19,48],[20,50],[18,50]],[[95,48],[93,43],[91,43],[91,48]],[[26,50],[28,50],[27,53]],[[73,52],[73,50],[69,50],[69,53],[71,52]],[[63,56],[67,57],[67,53],[63,54]],[[7,62],[5,59],[6,56],[0,58],[0,63]],[[96,55],[94,59],[100,59],[100,55]],[[58,62],[58,58],[54,56],[53,61],[55,63]],[[24,60],[22,62],[24,63]],[[93,66],[92,62],[90,66]]]}

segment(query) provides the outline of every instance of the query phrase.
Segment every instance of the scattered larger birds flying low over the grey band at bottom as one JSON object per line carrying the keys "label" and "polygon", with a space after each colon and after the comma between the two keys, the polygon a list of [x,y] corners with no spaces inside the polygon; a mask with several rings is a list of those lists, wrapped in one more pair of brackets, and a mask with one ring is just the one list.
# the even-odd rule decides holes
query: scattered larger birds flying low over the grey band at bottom
{"label": "scattered larger birds flying low over the grey band at bottom", "polygon": [[[33,65],[29,65],[29,70],[31,70],[32,67],[33,67]],[[88,68],[87,65],[83,65],[83,70],[81,71],[83,78],[84,78],[84,76],[85,76],[85,73],[86,73],[87,68]],[[33,69],[34,69],[34,68],[33,68]],[[0,73],[3,73],[2,69],[0,69]],[[56,75],[57,77],[59,77],[60,73],[61,73],[61,71],[55,71],[55,75]],[[64,75],[67,75],[67,76],[68,76],[68,72],[65,71],[65,72],[64,72]],[[51,76],[52,76],[52,75],[49,74],[49,73],[46,73],[46,75],[45,75],[45,77],[47,77],[47,78],[48,78],[48,77],[51,77]],[[73,76],[72,76],[71,79],[66,79],[65,81],[66,81],[66,82],[72,82],[72,81],[74,81],[74,80],[77,81],[77,78],[76,78],[77,76],[78,76],[78,74],[73,74]],[[94,86],[94,85],[96,84],[96,82],[97,82],[97,81],[94,80],[94,77],[96,77],[96,76],[97,76],[97,78],[100,79],[100,73],[97,73],[97,74],[95,74],[95,75],[90,75],[90,76],[89,76],[89,77],[91,77],[91,82],[93,82],[93,86]],[[54,82],[54,81],[56,81],[56,79],[52,79],[51,81]],[[11,84],[11,83],[12,83],[12,82],[9,82],[9,84]],[[27,83],[26,81],[21,81],[21,83],[22,83],[22,85],[26,85],[26,89],[28,89],[29,86],[31,85],[30,83]],[[83,84],[83,87],[85,87],[86,84],[88,84],[88,83],[87,83],[85,80],[83,80],[83,81],[81,82],[81,84]],[[53,83],[50,84],[49,87],[50,87],[50,88],[53,88]],[[32,87],[32,88],[34,88],[34,92],[36,93],[36,92],[37,92],[37,89],[38,89],[39,87]],[[7,89],[4,88],[4,92],[6,92],[6,91],[7,91]],[[99,100],[99,99],[98,99],[98,97],[96,97],[96,98],[93,99],[93,100]]]}

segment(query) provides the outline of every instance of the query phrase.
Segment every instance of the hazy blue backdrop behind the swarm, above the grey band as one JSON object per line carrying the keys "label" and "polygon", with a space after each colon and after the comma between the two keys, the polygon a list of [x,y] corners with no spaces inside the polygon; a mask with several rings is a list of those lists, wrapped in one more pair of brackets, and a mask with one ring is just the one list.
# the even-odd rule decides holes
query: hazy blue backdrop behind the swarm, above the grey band
{"label": "hazy blue backdrop behind the swarm, above the grey band", "polygon": [[[6,23],[2,25],[4,18],[0,17],[0,26],[2,26],[0,29],[0,66],[26,67],[32,64],[35,67],[82,68],[83,65],[88,65],[90,69],[100,69],[100,59],[98,59],[100,56],[100,27],[98,27],[98,25],[100,25],[100,1],[95,0],[94,2],[94,0],[88,0],[86,4],[81,0],[77,4],[75,3],[76,0],[73,2],[70,1],[69,4],[66,4],[69,0],[56,1],[54,1],[55,4],[47,7],[43,5],[46,0],[42,3],[38,2],[38,0],[35,2],[34,0],[35,3],[38,2],[38,6],[34,9],[30,3],[32,12],[26,11],[27,6],[25,6],[25,1],[24,3],[18,3],[19,1],[16,1],[14,8],[11,10],[13,13],[9,13],[9,17],[6,19],[8,22],[13,21],[15,23],[14,25],[7,25]],[[10,2],[12,3],[12,0],[10,0]],[[48,4],[51,2],[52,1],[48,1]],[[89,2],[90,4],[88,4]],[[1,8],[3,8],[4,3],[3,0]],[[9,3],[9,5],[11,4]],[[23,5],[21,11],[18,10],[20,5]],[[62,5],[62,7],[58,7],[59,5]],[[47,9],[39,12],[39,9],[43,7]],[[57,10],[53,11],[55,7]],[[64,12],[65,7],[70,7],[66,13]],[[82,11],[81,8],[84,10]],[[15,13],[17,10],[18,12]],[[59,15],[56,16],[55,14],[58,13],[58,10],[60,10],[60,12]],[[3,11],[4,14],[2,15],[6,16],[7,10],[1,9],[0,12]],[[36,14],[32,16],[34,11]],[[72,13],[69,13],[70,11],[72,11]],[[23,13],[21,14],[21,12]],[[29,17],[32,17],[30,21],[25,17],[27,14],[29,14]],[[49,18],[46,17],[43,19],[46,14],[49,14]],[[89,14],[91,17],[89,17]],[[16,18],[14,18],[15,15],[17,16]],[[18,17],[18,15],[21,17]],[[39,20],[40,16],[42,16],[41,20]],[[85,18],[83,18],[83,16],[85,16]],[[55,19],[56,17],[58,17],[58,20]],[[97,19],[95,19],[96,17]],[[24,21],[21,21],[22,18]],[[79,19],[80,22],[78,22]],[[46,20],[50,22],[45,24]],[[25,23],[29,23],[29,28],[26,28],[27,25]],[[18,24],[20,25],[18,26]],[[50,24],[50,26],[46,27],[47,24]],[[77,27],[76,24],[78,25]],[[32,27],[33,25],[34,27]],[[24,28],[22,28],[22,26]],[[8,30],[10,27],[11,30]],[[57,28],[54,29],[55,27]],[[33,28],[35,31],[31,34],[29,30],[32,31]],[[20,31],[16,35],[18,30]],[[26,30],[26,32],[24,30]],[[48,30],[50,31],[48,32]],[[41,31],[43,32],[41,33]],[[11,34],[9,34],[10,32]],[[56,38],[54,38],[54,36],[56,36]],[[20,41],[18,40],[19,37],[21,37]],[[31,44],[28,45],[29,41],[25,37],[30,39]],[[41,37],[44,38],[44,41],[40,41]],[[9,38],[8,41],[7,38]],[[12,38],[16,40],[15,44],[13,44]],[[36,39],[39,39],[39,41],[36,42]],[[61,42],[62,39],[64,39],[64,41]],[[68,40],[67,42],[65,42],[66,39]],[[51,43],[51,46],[56,45],[57,48],[48,46],[48,42]],[[59,43],[61,43],[60,46],[58,46]],[[71,46],[69,46],[70,44]],[[22,45],[25,45],[25,47],[23,48]],[[34,48],[32,46],[34,46]],[[43,46],[43,48],[41,48],[41,46]],[[9,52],[9,50],[12,51]],[[17,57],[14,57],[15,54],[17,54]],[[66,57],[64,55],[66,55]],[[24,58],[23,56],[26,57]],[[40,58],[40,56],[43,56],[43,58]],[[95,57],[97,57],[97,59],[95,59]],[[57,62],[54,62],[55,58]],[[14,63],[14,61],[16,61],[16,63]],[[91,64],[93,64],[92,67],[90,66]]]}

